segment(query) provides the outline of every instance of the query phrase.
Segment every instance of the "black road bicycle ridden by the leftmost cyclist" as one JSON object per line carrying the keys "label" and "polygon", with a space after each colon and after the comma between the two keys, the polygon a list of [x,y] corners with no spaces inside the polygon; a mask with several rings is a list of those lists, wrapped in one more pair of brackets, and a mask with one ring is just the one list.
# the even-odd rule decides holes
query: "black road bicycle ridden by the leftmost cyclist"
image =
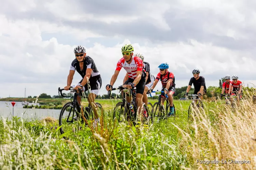
{"label": "black road bicycle ridden by the leftmost cyclist", "polygon": [[[66,97],[66,96],[64,96],[63,94],[62,94],[62,91],[63,91],[64,89],[60,89],[60,87],[58,88],[58,92],[59,92],[59,94],[62,96],[62,97]],[[79,103],[78,103],[78,101],[77,101],[77,96],[83,96],[84,98],[86,98],[86,99],[88,99],[88,97],[87,96],[85,96],[84,94],[82,94],[82,89],[80,89],[80,88],[78,88],[78,91],[79,92],[76,92],[75,90],[74,90],[74,88],[73,87],[71,87],[71,88],[69,88],[69,90],[70,90],[70,93],[72,94],[74,94],[74,97],[73,97],[73,101],[72,101],[72,99],[70,99],[71,100],[71,102],[67,102],[66,104],[64,104],[63,105],[63,107],[61,108],[61,111],[60,111],[60,115],[59,115],[59,126],[60,126],[60,133],[61,134],[63,134],[63,133],[65,133],[64,131],[63,131],[63,127],[69,127],[70,128],[70,125],[68,125],[68,123],[73,123],[73,122],[75,122],[75,121],[77,121],[77,120],[79,120],[79,119],[82,119],[81,120],[81,123],[83,123],[84,122],[84,119],[85,119],[85,121],[86,121],[86,124],[88,125],[88,121],[87,120],[89,120],[90,119],[90,116],[91,116],[91,118],[94,120],[94,112],[93,112],[93,108],[91,107],[91,105],[90,105],[90,103],[88,104],[88,106],[86,106],[85,108],[83,107],[83,109],[82,109],[82,111],[83,111],[83,115],[84,115],[84,117],[83,117],[83,115],[81,115],[80,113],[81,113],[81,106],[79,105]],[[100,116],[102,116],[102,117],[104,117],[103,116],[103,108],[102,108],[102,106],[101,106],[101,104],[100,103],[97,103],[96,102],[96,105],[97,105],[97,110],[98,110],[98,116],[100,117]],[[69,107],[71,107],[71,108],[69,108]],[[73,109],[73,112],[72,112],[72,109]],[[65,111],[67,111],[67,112],[69,112],[68,113],[68,117],[67,117],[67,120],[66,121],[63,121],[63,115],[65,114]],[[100,112],[99,112],[100,111]],[[71,112],[72,112],[72,118],[71,118]],[[99,114],[100,113],[100,114]],[[70,118],[70,119],[69,119]],[[64,117],[64,119],[65,119],[65,117]],[[72,128],[71,128],[72,129]]]}

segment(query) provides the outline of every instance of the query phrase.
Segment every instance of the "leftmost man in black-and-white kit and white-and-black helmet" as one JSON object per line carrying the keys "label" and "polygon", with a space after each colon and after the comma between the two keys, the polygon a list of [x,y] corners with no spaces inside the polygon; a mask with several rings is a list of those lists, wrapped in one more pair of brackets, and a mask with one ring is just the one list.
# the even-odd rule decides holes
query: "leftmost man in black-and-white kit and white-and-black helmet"
{"label": "leftmost man in black-and-white kit and white-and-black helmet", "polygon": [[[71,63],[67,86],[64,87],[65,90],[69,90],[70,85],[73,80],[73,76],[75,74],[75,70],[82,76],[82,80],[74,87],[75,90],[78,88],[83,89],[83,91],[87,91],[90,89],[90,93],[88,96],[88,101],[93,107],[93,111],[95,114],[95,125],[99,122],[99,117],[97,114],[97,105],[95,103],[95,98],[99,93],[99,90],[102,85],[100,73],[94,63],[94,60],[86,55],[86,50],[83,46],[77,46],[74,49],[75,59]],[[77,101],[81,105],[81,97],[77,96]]]}

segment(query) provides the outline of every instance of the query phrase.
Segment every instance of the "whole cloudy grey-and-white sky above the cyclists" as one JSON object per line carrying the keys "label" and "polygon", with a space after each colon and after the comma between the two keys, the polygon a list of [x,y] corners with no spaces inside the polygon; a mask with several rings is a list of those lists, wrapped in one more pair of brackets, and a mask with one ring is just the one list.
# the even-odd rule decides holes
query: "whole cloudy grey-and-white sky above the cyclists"
{"label": "whole cloudy grey-and-white sky above the cyclists", "polygon": [[[3,2],[3,0],[0,0]],[[143,53],[156,77],[167,62],[177,87],[193,69],[205,84],[219,86],[226,74],[256,84],[256,1],[252,0],[20,0],[0,6],[0,97],[57,95],[67,85],[82,45],[107,94],[121,48]],[[114,86],[122,85],[122,69]],[[75,73],[72,85],[82,79]],[[161,88],[161,83],[155,90]]]}

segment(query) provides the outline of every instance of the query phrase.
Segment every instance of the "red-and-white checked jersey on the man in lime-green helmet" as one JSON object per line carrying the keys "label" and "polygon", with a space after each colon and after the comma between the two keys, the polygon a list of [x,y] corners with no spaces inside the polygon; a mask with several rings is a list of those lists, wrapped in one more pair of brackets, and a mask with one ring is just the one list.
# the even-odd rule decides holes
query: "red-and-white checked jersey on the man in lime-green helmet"
{"label": "red-and-white checked jersey on the man in lime-green helmet", "polygon": [[116,70],[120,71],[123,67],[129,75],[129,78],[135,79],[137,77],[137,71],[142,71],[142,76],[145,74],[143,69],[143,62],[140,57],[132,56],[131,63],[128,64],[124,58],[121,58],[116,65]]}

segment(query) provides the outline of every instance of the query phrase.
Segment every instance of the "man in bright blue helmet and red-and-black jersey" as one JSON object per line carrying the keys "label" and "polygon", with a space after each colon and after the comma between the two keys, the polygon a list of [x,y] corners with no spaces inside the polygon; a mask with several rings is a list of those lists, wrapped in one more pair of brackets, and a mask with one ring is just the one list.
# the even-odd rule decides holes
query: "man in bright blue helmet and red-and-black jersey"
{"label": "man in bright blue helmet and red-and-black jersey", "polygon": [[[175,93],[175,83],[174,83],[174,74],[168,71],[169,65],[167,63],[162,63],[158,66],[160,72],[156,76],[156,80],[153,83],[151,91],[156,87],[158,81],[160,80],[162,83],[162,90],[165,91],[165,94],[168,96],[168,101],[170,103],[170,112],[168,116],[174,115],[173,108],[173,98],[172,95]],[[165,96],[165,94],[161,94],[161,96]],[[165,102],[165,98],[163,98],[162,103]]]}

